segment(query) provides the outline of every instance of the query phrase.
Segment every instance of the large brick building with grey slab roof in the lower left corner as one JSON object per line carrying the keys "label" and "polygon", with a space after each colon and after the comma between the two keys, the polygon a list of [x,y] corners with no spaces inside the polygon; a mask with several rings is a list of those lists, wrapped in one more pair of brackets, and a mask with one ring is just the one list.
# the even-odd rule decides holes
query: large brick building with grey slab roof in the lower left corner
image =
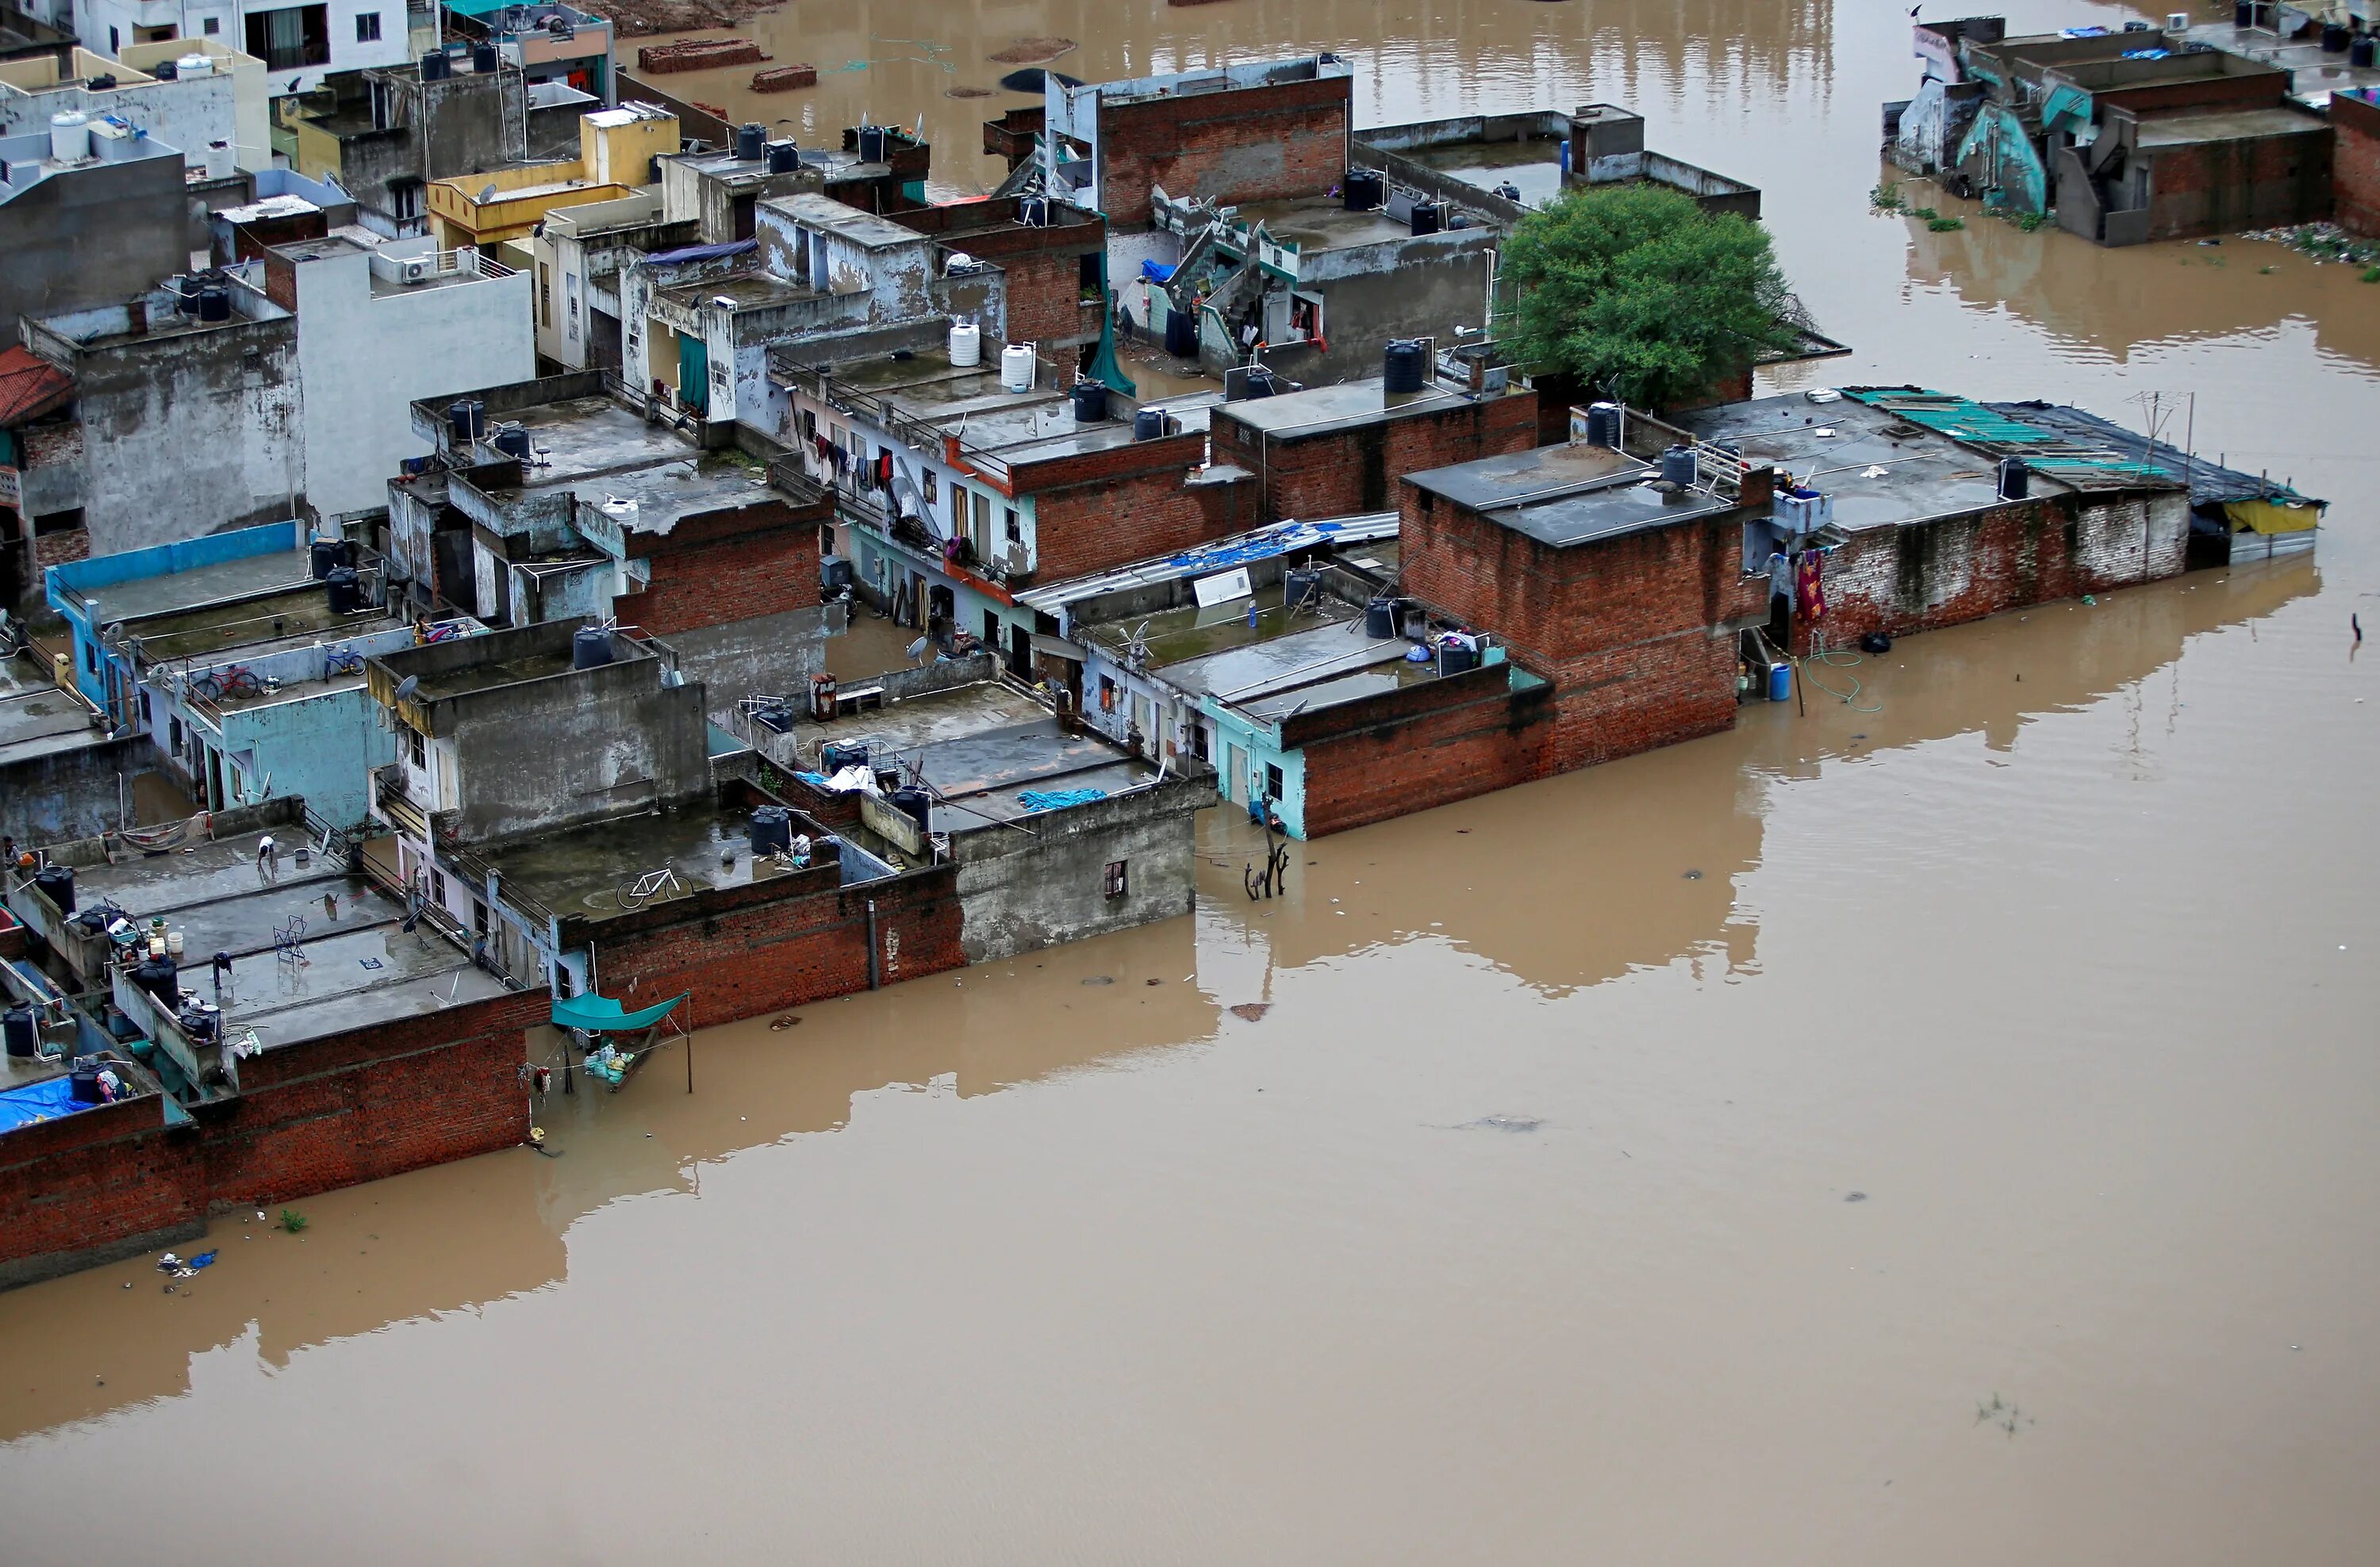
{"label": "large brick building with grey slab roof in the lower left corner", "polygon": [[[74,908],[10,892],[43,970],[12,968],[10,992],[60,996],[45,1032],[107,1053],[126,1096],[0,1134],[0,1286],[528,1134],[524,1032],[545,996],[476,968],[340,856],[300,861],[300,801],[250,816],[278,816],[271,854],[250,830],[109,866],[93,839],[52,851],[81,861]],[[83,911],[162,918],[190,965],[136,970]],[[105,992],[152,1049],[121,1049],[67,989]]]}

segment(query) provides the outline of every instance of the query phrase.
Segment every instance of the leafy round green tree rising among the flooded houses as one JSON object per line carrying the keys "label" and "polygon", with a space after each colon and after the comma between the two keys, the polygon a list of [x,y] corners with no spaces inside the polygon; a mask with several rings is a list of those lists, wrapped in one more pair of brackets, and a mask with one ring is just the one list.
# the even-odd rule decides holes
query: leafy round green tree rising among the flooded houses
{"label": "leafy round green tree rising among the flooded houses", "polygon": [[1514,226],[1509,342],[1645,407],[1706,395],[1797,342],[1768,231],[1661,185],[1568,190]]}

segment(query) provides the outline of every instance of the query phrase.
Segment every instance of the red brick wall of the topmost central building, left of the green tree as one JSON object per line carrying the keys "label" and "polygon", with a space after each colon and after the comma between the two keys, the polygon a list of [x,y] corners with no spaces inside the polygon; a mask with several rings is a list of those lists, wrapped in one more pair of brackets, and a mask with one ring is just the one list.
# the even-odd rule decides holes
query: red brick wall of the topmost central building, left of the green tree
{"label": "red brick wall of the topmost central building, left of the green tree", "polygon": [[1349,78],[1100,105],[1109,224],[1147,224],[1150,185],[1219,202],[1323,195],[1347,171]]}

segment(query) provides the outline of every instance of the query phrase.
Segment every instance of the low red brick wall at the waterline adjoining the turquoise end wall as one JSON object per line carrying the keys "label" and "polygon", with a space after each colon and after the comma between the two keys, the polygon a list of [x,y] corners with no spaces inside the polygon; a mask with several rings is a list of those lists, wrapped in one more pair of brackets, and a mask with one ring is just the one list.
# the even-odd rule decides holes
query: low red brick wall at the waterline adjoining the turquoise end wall
{"label": "low red brick wall at the waterline adjoining the turquoise end wall", "polygon": [[1552,687],[1514,692],[1509,682],[1507,671],[1483,668],[1411,685],[1383,704],[1354,704],[1357,728],[1307,740],[1307,837],[1545,778],[1554,768]]}

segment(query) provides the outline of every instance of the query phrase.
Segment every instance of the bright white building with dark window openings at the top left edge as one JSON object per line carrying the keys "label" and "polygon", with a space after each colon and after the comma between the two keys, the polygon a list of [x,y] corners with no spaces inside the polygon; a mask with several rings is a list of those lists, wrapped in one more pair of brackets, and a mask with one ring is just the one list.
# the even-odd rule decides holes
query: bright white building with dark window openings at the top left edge
{"label": "bright white building with dark window openings at the top left edge", "polygon": [[83,48],[124,59],[143,43],[214,40],[264,62],[271,97],[321,86],[331,71],[405,64],[407,0],[74,0]]}

